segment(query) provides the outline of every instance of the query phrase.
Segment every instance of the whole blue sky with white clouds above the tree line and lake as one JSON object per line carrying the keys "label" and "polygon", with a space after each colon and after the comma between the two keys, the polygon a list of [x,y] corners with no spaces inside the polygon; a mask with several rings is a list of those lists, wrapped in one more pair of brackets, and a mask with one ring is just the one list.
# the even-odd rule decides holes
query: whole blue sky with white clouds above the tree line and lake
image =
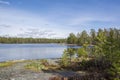
{"label": "whole blue sky with white clouds above the tree line and lake", "polygon": [[0,36],[66,38],[120,29],[120,0],[0,0]]}

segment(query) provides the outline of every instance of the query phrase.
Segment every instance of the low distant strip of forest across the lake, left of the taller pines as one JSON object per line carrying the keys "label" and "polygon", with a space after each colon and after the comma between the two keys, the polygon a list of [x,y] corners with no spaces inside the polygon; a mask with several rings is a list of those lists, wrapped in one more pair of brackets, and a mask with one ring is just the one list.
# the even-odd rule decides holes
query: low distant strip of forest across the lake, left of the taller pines
{"label": "low distant strip of forest across the lake, left of the taller pines", "polygon": [[0,37],[0,43],[64,43],[65,39]]}

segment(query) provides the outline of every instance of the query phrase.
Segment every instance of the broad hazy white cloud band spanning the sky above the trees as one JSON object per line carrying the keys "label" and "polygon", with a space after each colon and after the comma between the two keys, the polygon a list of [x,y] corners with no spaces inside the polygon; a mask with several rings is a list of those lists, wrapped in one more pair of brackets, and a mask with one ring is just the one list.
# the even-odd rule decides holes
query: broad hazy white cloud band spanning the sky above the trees
{"label": "broad hazy white cloud band spanning the sky above the trees", "polygon": [[[60,10],[60,12],[63,11]],[[19,37],[65,38],[70,32],[77,33],[82,30],[88,30],[92,28],[91,26],[95,26],[93,28],[109,26],[108,24],[111,26],[112,22],[119,21],[117,20],[119,17],[111,15],[104,16],[102,13],[80,13],[79,11],[78,13],[68,13],[70,12],[64,11],[64,13],[47,13],[43,15],[42,13],[34,14],[19,9],[0,8],[0,27],[4,26],[7,28],[1,28],[0,33],[2,35],[7,33],[10,36]],[[8,27],[10,28],[8,29]]]}

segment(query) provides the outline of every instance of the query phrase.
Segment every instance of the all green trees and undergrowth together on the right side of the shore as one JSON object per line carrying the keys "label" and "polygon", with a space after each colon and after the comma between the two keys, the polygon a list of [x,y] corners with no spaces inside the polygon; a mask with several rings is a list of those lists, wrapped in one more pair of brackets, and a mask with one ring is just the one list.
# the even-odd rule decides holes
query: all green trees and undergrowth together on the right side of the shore
{"label": "all green trees and undergrowth together on the right side of the shore", "polygon": [[68,80],[120,80],[120,29],[99,29],[98,32],[91,29],[90,34],[86,31],[77,35],[71,33],[67,43],[82,47],[65,49],[61,67],[90,73],[84,79],[72,76]]}

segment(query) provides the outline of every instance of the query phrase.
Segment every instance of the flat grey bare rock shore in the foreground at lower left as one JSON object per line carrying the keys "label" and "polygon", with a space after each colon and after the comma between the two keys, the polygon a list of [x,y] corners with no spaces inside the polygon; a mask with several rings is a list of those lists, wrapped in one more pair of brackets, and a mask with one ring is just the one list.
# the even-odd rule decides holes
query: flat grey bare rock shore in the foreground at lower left
{"label": "flat grey bare rock shore in the foreground at lower left", "polygon": [[[49,63],[57,65],[58,59],[47,59]],[[25,65],[31,63],[31,61],[39,60],[17,60],[11,66],[0,67],[0,80],[49,80],[54,76],[71,76],[75,72],[72,71],[32,71],[25,69]]]}

